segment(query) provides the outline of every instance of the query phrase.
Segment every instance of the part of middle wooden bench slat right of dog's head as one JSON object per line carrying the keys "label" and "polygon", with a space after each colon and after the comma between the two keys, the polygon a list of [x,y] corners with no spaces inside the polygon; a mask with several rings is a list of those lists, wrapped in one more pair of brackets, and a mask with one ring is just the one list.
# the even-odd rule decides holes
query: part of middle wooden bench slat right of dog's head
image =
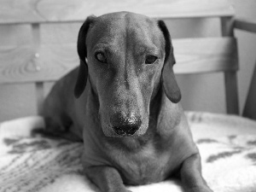
{"label": "part of middle wooden bench slat right of dog's head", "polygon": [[212,73],[238,69],[235,38],[173,40],[175,73]]}

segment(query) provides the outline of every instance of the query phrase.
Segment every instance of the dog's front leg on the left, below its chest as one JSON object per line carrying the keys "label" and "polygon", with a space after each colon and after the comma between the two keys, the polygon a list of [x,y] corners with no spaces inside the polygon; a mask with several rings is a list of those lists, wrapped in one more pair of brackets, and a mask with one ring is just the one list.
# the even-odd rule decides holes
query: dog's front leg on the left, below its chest
{"label": "dog's front leg on the left, below its chest", "polygon": [[125,189],[119,172],[111,166],[92,166],[85,174],[102,192],[131,192]]}

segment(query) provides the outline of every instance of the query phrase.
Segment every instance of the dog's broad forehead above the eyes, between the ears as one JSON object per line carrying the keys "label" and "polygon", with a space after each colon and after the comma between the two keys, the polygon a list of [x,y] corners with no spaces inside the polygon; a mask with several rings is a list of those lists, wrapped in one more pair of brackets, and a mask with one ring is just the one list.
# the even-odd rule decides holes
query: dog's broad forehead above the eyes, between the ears
{"label": "dog's broad forehead above the eyes, between the ears", "polygon": [[[96,32],[98,28],[100,32]],[[91,34],[94,38],[93,44],[101,47],[99,49],[106,49],[113,55],[125,54],[124,64],[126,65],[126,62],[130,62],[130,58],[135,54],[137,55],[135,59],[145,55],[160,55],[161,39],[158,31],[160,30],[155,20],[144,16],[137,18],[129,13],[123,13],[117,18],[115,16],[100,18],[91,30]],[[116,38],[120,34],[124,38]]]}

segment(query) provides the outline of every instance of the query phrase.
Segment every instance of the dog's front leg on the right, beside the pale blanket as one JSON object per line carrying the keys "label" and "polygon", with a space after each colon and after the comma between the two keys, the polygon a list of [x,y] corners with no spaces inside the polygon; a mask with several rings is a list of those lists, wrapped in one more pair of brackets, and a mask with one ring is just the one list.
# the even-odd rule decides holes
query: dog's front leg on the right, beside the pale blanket
{"label": "dog's front leg on the right, beside the pale blanket", "polygon": [[186,192],[212,192],[201,176],[200,154],[193,154],[183,161],[180,176]]}

